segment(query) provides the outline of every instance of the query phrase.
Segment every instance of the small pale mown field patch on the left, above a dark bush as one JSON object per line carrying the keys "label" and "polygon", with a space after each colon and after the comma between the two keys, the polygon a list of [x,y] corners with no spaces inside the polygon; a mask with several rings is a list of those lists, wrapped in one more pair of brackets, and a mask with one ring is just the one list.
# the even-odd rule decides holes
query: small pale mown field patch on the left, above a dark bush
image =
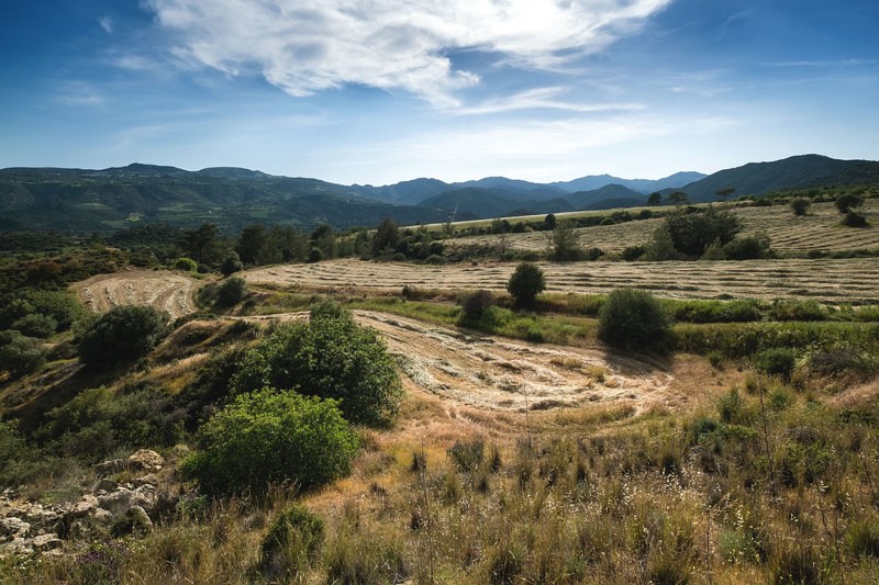
{"label": "small pale mown field patch on the left, above a dark bush", "polygon": [[133,270],[92,277],[73,289],[82,304],[96,313],[119,305],[152,305],[176,318],[196,312],[196,284],[179,272]]}

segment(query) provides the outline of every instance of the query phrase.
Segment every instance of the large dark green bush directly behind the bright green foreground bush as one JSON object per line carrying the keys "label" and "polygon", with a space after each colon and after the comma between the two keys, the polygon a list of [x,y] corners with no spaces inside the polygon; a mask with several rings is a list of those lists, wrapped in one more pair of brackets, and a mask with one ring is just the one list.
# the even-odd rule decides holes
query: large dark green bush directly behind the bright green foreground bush
{"label": "large dark green bush directly behind the bright green foreground bush", "polygon": [[385,344],[347,314],[280,325],[247,352],[230,385],[233,393],[272,386],[337,398],[348,420],[365,425],[390,423],[402,395]]}

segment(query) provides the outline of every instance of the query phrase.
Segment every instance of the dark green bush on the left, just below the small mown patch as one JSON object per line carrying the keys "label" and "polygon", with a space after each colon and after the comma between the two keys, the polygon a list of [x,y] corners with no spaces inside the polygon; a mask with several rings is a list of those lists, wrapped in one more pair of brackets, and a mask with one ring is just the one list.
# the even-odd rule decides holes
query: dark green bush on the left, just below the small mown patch
{"label": "dark green bush on the left, just below the small mown patch", "polygon": [[111,365],[149,352],[168,334],[168,315],[152,306],[116,306],[82,334],[79,358],[89,365]]}

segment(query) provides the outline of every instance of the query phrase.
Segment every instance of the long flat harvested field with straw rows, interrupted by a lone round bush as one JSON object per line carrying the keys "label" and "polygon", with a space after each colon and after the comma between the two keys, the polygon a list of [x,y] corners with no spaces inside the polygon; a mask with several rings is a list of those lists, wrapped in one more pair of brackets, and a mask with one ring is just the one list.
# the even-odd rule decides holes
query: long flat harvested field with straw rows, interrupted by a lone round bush
{"label": "long flat harvested field with straw rows, interrupted by a lone round bush", "polygon": [[[814,299],[875,303],[879,262],[874,258],[698,262],[576,262],[541,265],[548,291],[608,293],[620,286],[678,299]],[[430,267],[334,260],[262,268],[242,273],[251,283],[325,291],[399,292],[404,284],[439,290],[504,290],[513,262]]]}

